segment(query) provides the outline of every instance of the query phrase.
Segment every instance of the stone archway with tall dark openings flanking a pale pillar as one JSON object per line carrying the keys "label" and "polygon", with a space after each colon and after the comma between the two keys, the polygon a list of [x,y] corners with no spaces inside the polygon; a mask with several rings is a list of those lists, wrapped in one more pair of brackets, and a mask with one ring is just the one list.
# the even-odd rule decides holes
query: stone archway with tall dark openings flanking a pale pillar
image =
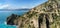
{"label": "stone archway with tall dark openings flanking a pale pillar", "polygon": [[48,20],[48,15],[47,14],[40,14],[38,18],[38,26],[39,28],[49,28],[49,20]]}

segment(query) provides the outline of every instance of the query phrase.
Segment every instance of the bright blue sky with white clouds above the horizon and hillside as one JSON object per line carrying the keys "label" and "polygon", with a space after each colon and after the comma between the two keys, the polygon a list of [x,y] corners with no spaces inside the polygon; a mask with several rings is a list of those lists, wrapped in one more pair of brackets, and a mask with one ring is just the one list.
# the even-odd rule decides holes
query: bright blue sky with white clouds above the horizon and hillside
{"label": "bright blue sky with white clouds above the horizon and hillside", "polygon": [[33,8],[48,0],[0,0],[0,9]]}

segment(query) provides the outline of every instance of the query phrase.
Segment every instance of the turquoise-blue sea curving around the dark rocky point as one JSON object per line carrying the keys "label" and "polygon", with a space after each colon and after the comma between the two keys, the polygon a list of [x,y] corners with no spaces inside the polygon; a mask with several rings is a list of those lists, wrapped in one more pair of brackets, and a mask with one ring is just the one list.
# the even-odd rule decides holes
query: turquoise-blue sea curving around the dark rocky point
{"label": "turquoise-blue sea curving around the dark rocky point", "polygon": [[11,14],[23,15],[29,10],[20,10],[20,11],[0,11],[0,28],[17,28],[16,25],[7,25],[7,17]]}

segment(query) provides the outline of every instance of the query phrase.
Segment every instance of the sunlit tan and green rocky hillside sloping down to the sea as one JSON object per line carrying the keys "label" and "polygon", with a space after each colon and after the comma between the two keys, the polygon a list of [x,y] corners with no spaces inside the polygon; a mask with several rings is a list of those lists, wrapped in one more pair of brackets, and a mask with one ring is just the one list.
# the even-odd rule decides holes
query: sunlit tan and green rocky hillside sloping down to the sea
{"label": "sunlit tan and green rocky hillside sloping down to the sea", "polygon": [[17,24],[18,28],[60,28],[60,0],[48,0],[15,18],[14,23],[9,23]]}

